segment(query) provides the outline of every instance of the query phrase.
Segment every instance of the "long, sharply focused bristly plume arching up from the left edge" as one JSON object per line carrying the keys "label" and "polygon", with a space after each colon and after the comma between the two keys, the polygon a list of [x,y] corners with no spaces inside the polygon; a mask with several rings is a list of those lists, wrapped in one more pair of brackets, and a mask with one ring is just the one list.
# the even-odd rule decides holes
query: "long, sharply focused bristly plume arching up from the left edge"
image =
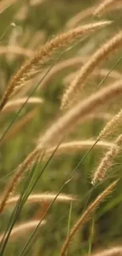
{"label": "long, sharply focused bristly plume arching up from the left edge", "polygon": [[9,81],[6,91],[2,96],[0,110],[2,110],[3,106],[5,106],[6,102],[15,91],[20,90],[24,83],[35,75],[37,69],[39,69],[45,61],[49,60],[56,50],[75,42],[76,39],[80,39],[81,36],[86,35],[87,32],[93,32],[95,28],[101,28],[107,24],[111,24],[111,21],[99,21],[94,24],[87,24],[68,32],[64,32],[61,35],[57,35],[54,39],[51,39],[50,42],[47,42],[41,50],[34,54],[33,58],[25,61],[24,65],[22,65],[19,71]]}

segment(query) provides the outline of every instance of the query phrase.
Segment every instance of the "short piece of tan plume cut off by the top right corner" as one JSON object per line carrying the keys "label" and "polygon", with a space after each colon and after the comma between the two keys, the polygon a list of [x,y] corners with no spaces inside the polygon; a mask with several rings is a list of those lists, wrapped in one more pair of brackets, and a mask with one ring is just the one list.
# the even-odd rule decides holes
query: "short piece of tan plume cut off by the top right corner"
{"label": "short piece of tan plume cut off by the top right corner", "polygon": [[109,7],[111,7],[110,9],[114,8],[118,2],[121,2],[121,0],[103,0],[95,9],[93,15],[100,17]]}

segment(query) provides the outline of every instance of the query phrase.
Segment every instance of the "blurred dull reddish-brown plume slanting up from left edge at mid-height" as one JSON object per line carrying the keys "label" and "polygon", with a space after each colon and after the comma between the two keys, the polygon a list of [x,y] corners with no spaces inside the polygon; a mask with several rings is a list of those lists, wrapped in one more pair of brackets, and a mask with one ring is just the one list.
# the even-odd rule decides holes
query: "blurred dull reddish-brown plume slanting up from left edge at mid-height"
{"label": "blurred dull reddish-brown plume slanting up from left edge at mid-height", "polygon": [[20,129],[24,128],[25,125],[28,124],[28,122],[31,121],[37,113],[38,109],[36,108],[25,114],[24,117],[17,121],[17,123],[13,125],[13,128],[7,132],[6,136],[2,139],[2,143],[8,143],[9,139],[12,139],[15,135],[17,135],[17,133],[20,132]]}

